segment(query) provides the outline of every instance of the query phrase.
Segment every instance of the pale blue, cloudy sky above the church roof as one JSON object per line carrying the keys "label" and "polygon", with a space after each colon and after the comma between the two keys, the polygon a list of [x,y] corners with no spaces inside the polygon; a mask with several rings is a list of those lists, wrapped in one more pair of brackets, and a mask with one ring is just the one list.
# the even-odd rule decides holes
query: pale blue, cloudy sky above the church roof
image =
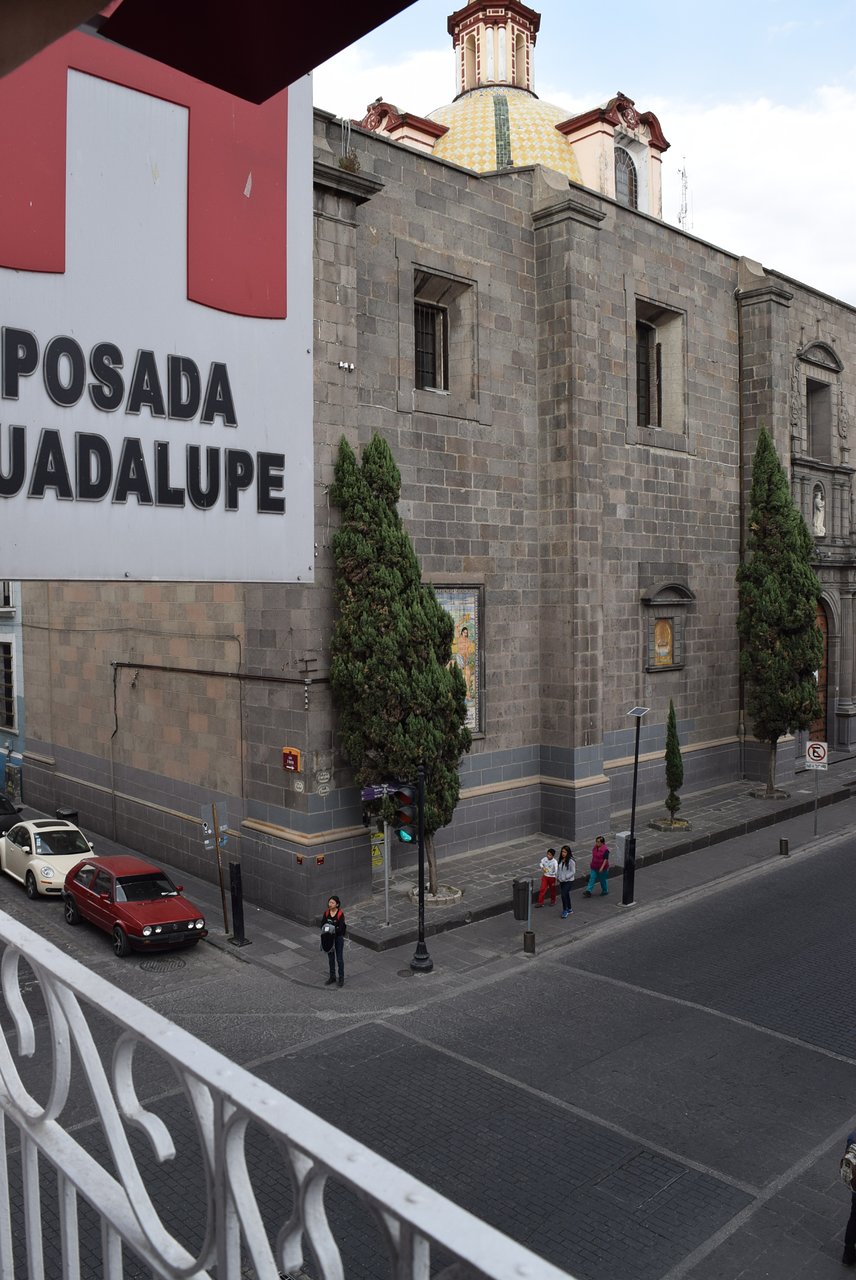
{"label": "pale blue, cloudy sky above the church roof", "polygon": [[[315,104],[360,119],[377,96],[426,115],[454,96],[447,18],[416,0],[315,72]],[[535,91],[568,115],[627,93],[672,143],[663,216],[856,305],[856,0],[541,0]]]}

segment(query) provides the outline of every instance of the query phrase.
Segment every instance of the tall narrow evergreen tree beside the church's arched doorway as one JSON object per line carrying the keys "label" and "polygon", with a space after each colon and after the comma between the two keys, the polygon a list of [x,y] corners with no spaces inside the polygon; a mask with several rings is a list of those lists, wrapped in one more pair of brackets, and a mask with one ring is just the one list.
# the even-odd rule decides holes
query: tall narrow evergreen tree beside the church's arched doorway
{"label": "tall narrow evergreen tree beside the church's arched doorway", "polygon": [[747,559],[737,570],[741,672],[755,736],[770,748],[766,794],[775,794],[779,737],[806,730],[820,714],[816,671],[823,636],[816,623],[820,581],[814,541],[793,504],[788,477],[765,428],[752,463]]}

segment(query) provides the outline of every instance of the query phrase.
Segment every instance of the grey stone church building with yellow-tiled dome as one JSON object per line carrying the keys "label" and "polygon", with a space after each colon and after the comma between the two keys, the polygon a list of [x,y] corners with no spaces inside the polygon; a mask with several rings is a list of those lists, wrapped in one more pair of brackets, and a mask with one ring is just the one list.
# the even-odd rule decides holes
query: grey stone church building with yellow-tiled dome
{"label": "grey stone church building with yellow-tiled dome", "polygon": [[389,442],[456,622],[473,744],[440,858],[609,829],[635,705],[641,803],[665,795],[670,699],[685,795],[764,776],[734,584],[761,425],[824,585],[812,732],[853,750],[856,312],[667,225],[660,122],[623,93],[543,102],[539,23],[454,13],[458,95],[429,118],[315,113],[315,582],[24,584],[29,804],[211,878],[215,800],[250,899],[308,919],[371,893],[328,678],[343,434]]}

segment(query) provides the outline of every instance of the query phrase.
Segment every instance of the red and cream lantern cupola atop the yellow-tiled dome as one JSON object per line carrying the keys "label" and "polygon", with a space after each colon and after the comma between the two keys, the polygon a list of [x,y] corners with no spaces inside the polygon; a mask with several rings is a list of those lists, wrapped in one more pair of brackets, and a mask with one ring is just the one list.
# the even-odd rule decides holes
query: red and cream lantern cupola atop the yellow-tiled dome
{"label": "red and cream lantern cupola atop the yellow-tiled dome", "polygon": [[458,97],[473,88],[507,84],[535,91],[532,49],[541,15],[517,0],[475,0],[449,18],[458,72]]}

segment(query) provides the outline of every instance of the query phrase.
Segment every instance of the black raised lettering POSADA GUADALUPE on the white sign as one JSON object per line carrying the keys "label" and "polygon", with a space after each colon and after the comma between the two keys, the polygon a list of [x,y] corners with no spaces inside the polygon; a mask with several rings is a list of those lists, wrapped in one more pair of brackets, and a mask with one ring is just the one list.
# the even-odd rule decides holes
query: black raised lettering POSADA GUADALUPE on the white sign
{"label": "black raised lettering POSADA GUADALUPE on the white sign", "polygon": [[[120,440],[97,431],[75,431],[73,444],[46,421],[0,421],[0,498],[27,498],[238,511],[242,495],[255,490],[261,515],[284,515],[285,456],[189,440],[187,428],[214,425],[238,430],[238,416],[223,361],[211,361],[205,378],[198,364],[138,349],[131,371],[111,342],[92,346],[88,357],[77,339],[58,335],[44,351],[28,329],[4,326],[0,343],[0,394],[18,401],[26,379],[38,378],[61,417],[82,401],[99,413],[123,411],[152,422],[183,426],[180,438]],[[97,421],[97,420],[96,420]],[[95,425],[95,424],[93,424]]]}

